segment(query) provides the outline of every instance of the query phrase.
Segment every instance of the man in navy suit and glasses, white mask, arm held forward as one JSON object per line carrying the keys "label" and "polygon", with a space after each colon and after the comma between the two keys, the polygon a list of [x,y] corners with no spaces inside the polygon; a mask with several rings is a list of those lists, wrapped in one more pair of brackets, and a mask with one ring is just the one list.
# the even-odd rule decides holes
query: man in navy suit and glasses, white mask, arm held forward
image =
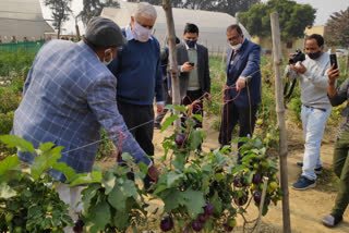
{"label": "man in navy suit and glasses, white mask, arm held forward", "polygon": [[[221,147],[230,145],[231,133],[237,123],[240,126],[240,137],[252,136],[257,105],[261,102],[261,47],[248,40],[238,25],[228,26],[227,38],[230,48],[218,138]],[[242,144],[239,143],[238,147]]]}

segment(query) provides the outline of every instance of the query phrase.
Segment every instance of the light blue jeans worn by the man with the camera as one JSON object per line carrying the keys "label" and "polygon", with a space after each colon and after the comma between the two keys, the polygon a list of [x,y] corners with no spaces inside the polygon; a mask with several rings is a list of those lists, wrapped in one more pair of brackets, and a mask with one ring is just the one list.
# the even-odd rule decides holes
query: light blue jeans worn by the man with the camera
{"label": "light blue jeans worn by the man with the camera", "polygon": [[312,181],[316,180],[314,169],[323,165],[320,160],[321,138],[329,114],[330,109],[323,110],[302,106],[301,116],[305,139],[302,175]]}

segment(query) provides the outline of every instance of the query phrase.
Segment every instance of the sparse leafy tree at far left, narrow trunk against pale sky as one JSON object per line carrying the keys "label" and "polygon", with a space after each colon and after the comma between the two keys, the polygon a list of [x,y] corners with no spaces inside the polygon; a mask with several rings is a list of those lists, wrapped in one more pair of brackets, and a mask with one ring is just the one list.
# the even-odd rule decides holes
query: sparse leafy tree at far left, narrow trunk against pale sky
{"label": "sparse leafy tree at far left, narrow trunk against pale sky", "polygon": [[69,13],[72,12],[70,4],[72,0],[45,0],[44,4],[52,11],[53,26],[58,30],[57,37],[61,34],[62,24],[69,20]]}

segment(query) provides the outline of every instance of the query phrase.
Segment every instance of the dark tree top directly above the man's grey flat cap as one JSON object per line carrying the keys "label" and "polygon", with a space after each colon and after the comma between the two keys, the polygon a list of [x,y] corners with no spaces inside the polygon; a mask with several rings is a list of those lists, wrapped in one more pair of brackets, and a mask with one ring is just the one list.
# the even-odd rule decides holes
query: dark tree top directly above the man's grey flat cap
{"label": "dark tree top directly above the man's grey flat cap", "polygon": [[99,16],[104,8],[119,8],[117,0],[83,0],[83,10],[79,13],[84,25],[94,16]]}

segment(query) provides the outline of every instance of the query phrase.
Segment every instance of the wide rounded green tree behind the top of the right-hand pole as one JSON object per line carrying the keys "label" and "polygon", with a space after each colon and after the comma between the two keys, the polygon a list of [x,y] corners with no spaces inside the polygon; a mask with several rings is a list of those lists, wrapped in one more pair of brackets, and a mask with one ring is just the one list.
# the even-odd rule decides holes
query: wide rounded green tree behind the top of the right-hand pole
{"label": "wide rounded green tree behind the top of the right-hand pole", "polygon": [[279,14],[281,39],[290,41],[304,36],[304,28],[314,24],[316,10],[310,4],[298,4],[292,0],[269,0],[241,13],[240,21],[252,36],[270,36],[272,12]]}

